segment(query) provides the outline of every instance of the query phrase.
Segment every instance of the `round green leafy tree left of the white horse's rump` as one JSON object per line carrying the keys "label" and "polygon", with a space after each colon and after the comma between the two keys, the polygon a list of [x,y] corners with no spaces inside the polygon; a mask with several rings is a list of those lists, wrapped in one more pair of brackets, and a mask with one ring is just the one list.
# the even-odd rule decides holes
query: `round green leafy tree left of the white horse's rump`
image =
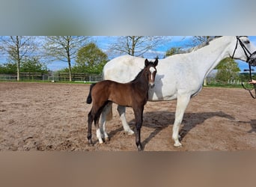
{"label": "round green leafy tree left of the white horse's rump", "polygon": [[108,56],[95,43],[89,43],[79,49],[73,71],[99,74],[102,73],[107,61]]}

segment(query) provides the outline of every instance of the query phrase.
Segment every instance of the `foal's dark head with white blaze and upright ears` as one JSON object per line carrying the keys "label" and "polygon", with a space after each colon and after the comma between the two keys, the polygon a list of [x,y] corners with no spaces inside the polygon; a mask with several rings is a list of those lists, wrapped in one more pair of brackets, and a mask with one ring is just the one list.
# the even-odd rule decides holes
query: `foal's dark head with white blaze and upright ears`
{"label": "foal's dark head with white blaze and upright ears", "polygon": [[154,62],[147,61],[147,59],[145,60],[144,70],[146,72],[148,85],[150,86],[150,88],[153,88],[153,86],[155,85],[154,82],[155,82],[155,78],[156,78],[156,66],[157,66],[157,64],[158,64],[158,59],[157,58]]}

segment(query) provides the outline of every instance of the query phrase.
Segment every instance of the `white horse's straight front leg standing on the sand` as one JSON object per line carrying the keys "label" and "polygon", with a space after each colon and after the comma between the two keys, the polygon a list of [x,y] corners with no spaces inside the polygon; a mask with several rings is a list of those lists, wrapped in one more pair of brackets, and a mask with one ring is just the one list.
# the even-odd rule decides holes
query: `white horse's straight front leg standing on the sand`
{"label": "white horse's straight front leg standing on the sand", "polygon": [[175,147],[181,146],[180,141],[179,141],[180,123],[183,120],[183,115],[184,115],[187,105],[189,104],[189,100],[190,100],[190,95],[177,96],[177,107],[176,107],[176,112],[175,112],[175,120],[174,120],[174,126],[172,128],[172,139],[174,140]]}

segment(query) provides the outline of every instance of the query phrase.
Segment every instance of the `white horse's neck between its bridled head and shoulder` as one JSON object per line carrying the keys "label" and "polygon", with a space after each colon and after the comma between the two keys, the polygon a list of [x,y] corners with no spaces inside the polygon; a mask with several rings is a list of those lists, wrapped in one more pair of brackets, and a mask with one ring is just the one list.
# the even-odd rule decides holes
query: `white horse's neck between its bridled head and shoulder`
{"label": "white horse's neck between its bridled head and shoulder", "polygon": [[192,63],[195,63],[202,76],[207,76],[219,64],[219,61],[228,57],[230,43],[231,40],[228,37],[222,37],[211,41],[208,46],[191,53],[196,58]]}

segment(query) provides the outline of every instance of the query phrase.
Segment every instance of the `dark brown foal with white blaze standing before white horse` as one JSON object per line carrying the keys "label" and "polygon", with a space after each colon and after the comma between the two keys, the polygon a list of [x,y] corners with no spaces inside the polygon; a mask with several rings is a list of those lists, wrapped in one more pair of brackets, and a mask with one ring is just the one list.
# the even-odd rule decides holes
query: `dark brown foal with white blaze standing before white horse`
{"label": "dark brown foal with white blaze standing before white horse", "polygon": [[145,67],[135,77],[132,82],[125,84],[105,80],[91,85],[90,93],[87,98],[87,103],[93,102],[91,111],[88,114],[88,141],[91,141],[91,123],[94,120],[94,125],[97,129],[97,138],[100,144],[103,140],[100,135],[99,119],[103,108],[109,102],[115,102],[118,105],[132,107],[135,115],[135,142],[138,150],[142,150],[141,145],[141,125],[143,121],[144,105],[147,103],[148,89],[154,86],[156,76],[156,61],[144,62]]}

